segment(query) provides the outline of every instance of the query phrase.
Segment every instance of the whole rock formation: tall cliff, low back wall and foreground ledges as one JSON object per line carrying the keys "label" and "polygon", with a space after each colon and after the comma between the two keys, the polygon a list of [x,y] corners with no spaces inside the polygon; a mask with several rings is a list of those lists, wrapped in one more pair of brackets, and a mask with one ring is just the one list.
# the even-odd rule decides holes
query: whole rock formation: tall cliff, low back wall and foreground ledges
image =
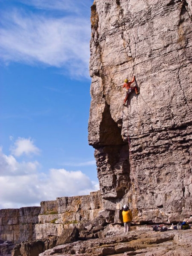
{"label": "whole rock formation: tall cliff, low back wall and foreground ledges", "polygon": [[[149,226],[192,220],[192,0],[95,0],[91,29],[88,142],[100,190],[0,210],[0,255],[11,241],[13,256],[192,256],[192,229]],[[134,75],[140,93],[123,105]]]}

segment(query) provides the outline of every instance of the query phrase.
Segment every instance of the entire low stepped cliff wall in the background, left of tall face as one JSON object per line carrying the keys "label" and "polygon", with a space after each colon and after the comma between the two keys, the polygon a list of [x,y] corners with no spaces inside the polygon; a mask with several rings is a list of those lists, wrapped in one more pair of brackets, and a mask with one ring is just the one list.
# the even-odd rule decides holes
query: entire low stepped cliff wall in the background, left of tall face
{"label": "entire low stepped cliff wall in the background, left of tall face", "polygon": [[0,210],[0,239],[16,244],[26,240],[60,236],[67,228],[74,225],[80,228],[82,222],[95,220],[102,209],[100,191],[87,196],[42,201],[41,207],[3,209]]}

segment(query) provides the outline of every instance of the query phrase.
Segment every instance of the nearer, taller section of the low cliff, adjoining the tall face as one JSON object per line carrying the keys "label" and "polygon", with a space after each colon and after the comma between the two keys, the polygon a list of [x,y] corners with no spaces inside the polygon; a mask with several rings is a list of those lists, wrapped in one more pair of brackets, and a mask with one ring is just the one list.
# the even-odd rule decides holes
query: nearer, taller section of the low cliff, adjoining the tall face
{"label": "nearer, taller section of the low cliff, adjoining the tall face", "polygon": [[100,192],[92,192],[87,196],[59,197],[56,201],[41,203],[41,213],[34,232],[36,239],[59,236],[63,229],[81,222],[88,222],[99,215],[103,209]]}

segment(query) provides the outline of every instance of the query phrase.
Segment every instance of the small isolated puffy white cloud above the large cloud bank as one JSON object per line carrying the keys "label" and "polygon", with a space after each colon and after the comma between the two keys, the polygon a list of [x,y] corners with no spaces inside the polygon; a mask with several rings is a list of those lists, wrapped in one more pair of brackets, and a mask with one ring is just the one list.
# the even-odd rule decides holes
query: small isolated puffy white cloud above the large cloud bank
{"label": "small isolated puffy white cloud above the large cloud bank", "polygon": [[38,155],[40,153],[40,149],[34,145],[31,138],[18,138],[10,150],[15,156]]}

